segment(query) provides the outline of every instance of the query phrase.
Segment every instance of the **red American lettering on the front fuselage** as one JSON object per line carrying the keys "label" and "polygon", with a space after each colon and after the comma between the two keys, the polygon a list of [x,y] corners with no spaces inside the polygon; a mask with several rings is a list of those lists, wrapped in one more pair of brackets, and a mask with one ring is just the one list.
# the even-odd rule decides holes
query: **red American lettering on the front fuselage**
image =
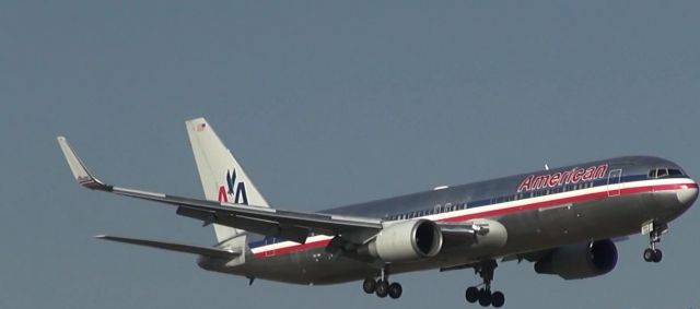
{"label": "red American lettering on the front fuselage", "polygon": [[562,185],[579,183],[582,181],[591,181],[605,177],[608,171],[608,165],[602,164],[591,166],[588,168],[574,167],[571,170],[557,171],[546,175],[530,175],[523,179],[517,192],[526,192],[545,188],[553,188]]}

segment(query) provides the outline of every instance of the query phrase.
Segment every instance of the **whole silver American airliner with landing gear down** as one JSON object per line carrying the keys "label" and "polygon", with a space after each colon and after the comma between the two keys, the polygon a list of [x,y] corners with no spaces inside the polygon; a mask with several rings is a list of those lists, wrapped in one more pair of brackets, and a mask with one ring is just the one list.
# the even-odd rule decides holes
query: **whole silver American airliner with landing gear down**
{"label": "whole silver American airliner with landing gear down", "polygon": [[83,187],[176,207],[212,225],[217,243],[191,246],[98,235],[100,239],[194,253],[207,271],[292,284],[362,281],[381,298],[399,298],[389,277],[406,272],[472,269],[482,281],[468,302],[502,307],[492,290],[499,262],[534,263],[538,274],[580,280],[610,272],[615,241],[649,237],[646,262],[660,262],[668,223],[698,197],[680,166],[651,156],[625,156],[329,209],[316,213],[271,207],[203,118],[186,121],[206,199],[107,185],[58,136]]}

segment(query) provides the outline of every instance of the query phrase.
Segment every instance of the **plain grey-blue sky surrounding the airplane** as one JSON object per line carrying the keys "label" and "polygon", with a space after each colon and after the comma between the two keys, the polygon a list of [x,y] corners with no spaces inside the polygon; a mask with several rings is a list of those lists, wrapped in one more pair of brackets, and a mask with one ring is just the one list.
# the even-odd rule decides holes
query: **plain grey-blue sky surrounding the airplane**
{"label": "plain grey-blue sky surrounding the airplane", "polygon": [[[430,5],[429,5],[430,4]],[[203,116],[277,207],[314,211],[626,154],[700,175],[697,1],[3,1],[1,308],[464,308],[470,271],[307,287],[199,270],[102,233],[189,243],[210,227],[73,183],[202,197],[184,121]],[[664,261],[610,274],[501,264],[510,308],[699,308],[697,206]],[[472,306],[472,308],[479,308]]]}

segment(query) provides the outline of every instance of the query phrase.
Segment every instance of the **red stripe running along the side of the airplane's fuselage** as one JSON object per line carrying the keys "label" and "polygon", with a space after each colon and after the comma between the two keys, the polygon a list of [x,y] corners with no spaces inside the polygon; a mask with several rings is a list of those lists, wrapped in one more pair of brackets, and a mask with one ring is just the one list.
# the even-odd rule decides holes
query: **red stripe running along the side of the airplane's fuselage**
{"label": "red stripe running along the side of the airplane's fuselage", "polygon": [[[681,190],[681,189],[698,189],[698,183],[658,185],[658,186],[625,188],[625,189],[620,189],[619,190],[619,192],[620,192],[619,194],[617,194],[618,190],[612,190],[612,191],[615,191],[616,197],[619,197],[619,195],[630,195],[630,194],[644,193],[644,192]],[[551,201],[542,201],[542,202],[530,203],[530,204],[525,204],[525,205],[511,206],[511,207],[506,207],[506,209],[477,212],[477,213],[471,213],[471,214],[466,214],[466,215],[460,215],[460,216],[454,216],[454,217],[440,219],[440,222],[460,222],[460,221],[467,221],[467,219],[471,219],[471,218],[499,216],[499,215],[505,215],[505,214],[511,214],[511,213],[517,213],[517,212],[522,212],[522,211],[544,209],[544,207],[549,207],[549,206],[567,204],[567,203],[586,202],[586,201],[607,198],[609,192],[611,192],[611,191],[587,193],[587,194],[581,194],[581,195],[578,195],[578,197],[569,197],[569,198],[562,198],[562,199],[557,199],[557,200],[551,200]],[[275,257],[275,255],[279,255],[279,254],[285,254],[285,253],[292,253],[292,252],[296,252],[296,251],[313,249],[313,248],[326,247],[329,242],[330,242],[330,239],[325,239],[325,240],[318,240],[318,241],[314,241],[314,242],[292,245],[292,246],[289,246],[289,247],[260,251],[260,252],[255,253],[254,255],[256,258],[269,258],[269,257]]]}

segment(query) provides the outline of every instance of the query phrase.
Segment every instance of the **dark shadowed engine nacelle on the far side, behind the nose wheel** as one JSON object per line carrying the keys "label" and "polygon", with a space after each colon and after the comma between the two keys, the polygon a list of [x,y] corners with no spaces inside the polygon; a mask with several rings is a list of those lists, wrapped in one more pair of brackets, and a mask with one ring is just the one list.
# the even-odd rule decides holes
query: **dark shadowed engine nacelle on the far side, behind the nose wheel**
{"label": "dark shadowed engine nacelle on the far side, behind the nose wheel", "polygon": [[617,264],[617,248],[610,239],[557,248],[535,263],[538,274],[559,275],[564,280],[607,274]]}

